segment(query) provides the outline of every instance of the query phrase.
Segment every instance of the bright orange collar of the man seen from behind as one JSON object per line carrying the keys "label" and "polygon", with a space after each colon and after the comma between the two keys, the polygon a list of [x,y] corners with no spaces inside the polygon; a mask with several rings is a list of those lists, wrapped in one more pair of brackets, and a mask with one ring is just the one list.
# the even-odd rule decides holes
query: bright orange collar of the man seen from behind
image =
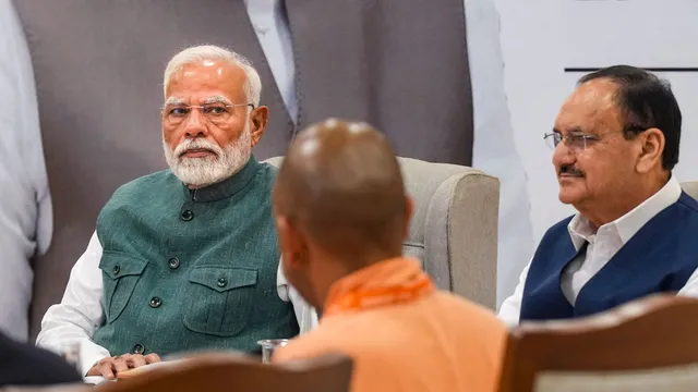
{"label": "bright orange collar of the man seen from behind", "polygon": [[436,289],[419,261],[398,257],[362,268],[329,289],[323,317],[416,301]]}

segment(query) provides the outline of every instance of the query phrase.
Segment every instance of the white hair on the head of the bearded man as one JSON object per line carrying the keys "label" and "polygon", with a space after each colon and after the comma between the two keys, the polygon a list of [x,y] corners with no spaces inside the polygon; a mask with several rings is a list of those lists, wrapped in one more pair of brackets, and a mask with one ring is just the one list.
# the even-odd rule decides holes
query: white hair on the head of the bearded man
{"label": "white hair on the head of the bearded man", "polygon": [[182,69],[182,66],[186,64],[203,60],[222,60],[232,65],[241,68],[246,76],[246,81],[243,86],[244,94],[248,97],[248,102],[245,103],[252,103],[255,108],[260,106],[260,97],[262,96],[262,81],[260,79],[260,74],[257,74],[257,71],[254,69],[254,66],[252,66],[252,62],[244,56],[213,45],[203,45],[186,48],[181,52],[174,54],[174,57],[167,63],[167,66],[165,68],[165,77],[163,78],[163,84],[165,85],[165,95],[167,95],[167,87],[169,86],[170,78],[174,73],[177,73]]}

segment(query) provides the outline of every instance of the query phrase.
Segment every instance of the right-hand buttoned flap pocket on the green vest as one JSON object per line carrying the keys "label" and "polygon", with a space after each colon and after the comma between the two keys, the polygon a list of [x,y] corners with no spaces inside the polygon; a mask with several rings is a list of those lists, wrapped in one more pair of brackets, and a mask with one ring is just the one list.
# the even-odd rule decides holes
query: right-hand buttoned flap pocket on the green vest
{"label": "right-hand buttoned flap pocket on the green vest", "polygon": [[216,336],[240,333],[252,313],[256,284],[256,269],[194,267],[181,303],[184,326]]}

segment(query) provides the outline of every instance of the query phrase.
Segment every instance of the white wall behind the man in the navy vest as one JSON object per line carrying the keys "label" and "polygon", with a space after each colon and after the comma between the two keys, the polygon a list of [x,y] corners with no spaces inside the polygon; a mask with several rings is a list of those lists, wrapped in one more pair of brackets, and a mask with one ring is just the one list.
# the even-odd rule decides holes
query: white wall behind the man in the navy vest
{"label": "white wall behind the man in the navy vest", "polygon": [[[550,225],[574,212],[557,200],[552,151],[542,138],[583,74],[564,69],[618,63],[698,68],[698,1],[496,0],[496,5],[505,90],[538,243]],[[659,75],[672,83],[684,114],[674,173],[679,181],[698,180],[698,73]]]}

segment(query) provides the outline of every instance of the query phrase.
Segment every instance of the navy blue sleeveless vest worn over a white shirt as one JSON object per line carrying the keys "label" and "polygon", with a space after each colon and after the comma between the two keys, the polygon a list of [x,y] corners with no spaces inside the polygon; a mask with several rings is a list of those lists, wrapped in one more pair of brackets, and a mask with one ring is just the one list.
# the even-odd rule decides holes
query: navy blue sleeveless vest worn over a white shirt
{"label": "navy blue sleeveless vest worn over a white shirt", "polygon": [[579,254],[569,237],[567,218],[541,240],[524,286],[520,320],[588,316],[660,292],[677,292],[698,268],[698,201],[678,200],[647,222],[583,285],[575,306],[559,287],[564,268]]}

